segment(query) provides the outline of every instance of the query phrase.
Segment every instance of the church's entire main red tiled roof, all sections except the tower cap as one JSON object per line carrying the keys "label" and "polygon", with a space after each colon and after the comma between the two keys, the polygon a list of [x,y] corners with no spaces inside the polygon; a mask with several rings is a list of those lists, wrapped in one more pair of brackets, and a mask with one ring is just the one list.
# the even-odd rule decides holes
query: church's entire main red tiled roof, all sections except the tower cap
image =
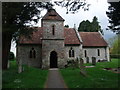
{"label": "church's entire main red tiled roof, all sections except the tower cap", "polygon": [[[32,39],[21,37],[20,44],[42,44],[43,28],[37,28],[37,31],[33,32]],[[107,46],[106,41],[100,35],[99,32],[79,32],[83,41],[83,46]],[[64,28],[65,44],[67,45],[79,45],[81,44],[75,30],[73,28]]]}

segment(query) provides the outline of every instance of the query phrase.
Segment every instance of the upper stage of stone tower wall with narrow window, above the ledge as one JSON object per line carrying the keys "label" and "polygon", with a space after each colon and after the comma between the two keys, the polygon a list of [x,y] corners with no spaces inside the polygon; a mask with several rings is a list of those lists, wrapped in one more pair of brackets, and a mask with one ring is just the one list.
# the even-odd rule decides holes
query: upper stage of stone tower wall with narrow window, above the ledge
{"label": "upper stage of stone tower wall with narrow window, above the ledge", "polygon": [[[63,21],[45,20],[42,23],[44,27],[43,39],[64,39]],[[52,35],[52,25],[55,25],[55,35]]]}

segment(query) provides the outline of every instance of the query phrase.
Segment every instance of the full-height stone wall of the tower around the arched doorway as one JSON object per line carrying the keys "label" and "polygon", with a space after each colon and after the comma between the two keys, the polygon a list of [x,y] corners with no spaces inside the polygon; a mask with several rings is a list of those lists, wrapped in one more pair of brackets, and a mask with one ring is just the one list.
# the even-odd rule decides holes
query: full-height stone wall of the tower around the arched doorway
{"label": "full-height stone wall of the tower around the arched doorway", "polygon": [[[54,35],[52,26],[54,25]],[[64,21],[42,21],[42,68],[50,68],[50,54],[52,51],[57,53],[57,65],[59,68],[65,66],[64,52]]]}

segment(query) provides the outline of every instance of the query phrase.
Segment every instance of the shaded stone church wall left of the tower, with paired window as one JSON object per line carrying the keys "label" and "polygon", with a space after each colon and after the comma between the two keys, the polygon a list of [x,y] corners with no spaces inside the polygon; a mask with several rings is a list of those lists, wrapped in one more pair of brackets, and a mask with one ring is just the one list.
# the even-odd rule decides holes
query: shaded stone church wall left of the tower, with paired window
{"label": "shaded stone church wall left of the tower, with paired window", "polygon": [[[30,50],[34,48],[36,51],[36,58],[30,58]],[[24,65],[41,67],[41,45],[19,45],[17,46],[17,61]]]}

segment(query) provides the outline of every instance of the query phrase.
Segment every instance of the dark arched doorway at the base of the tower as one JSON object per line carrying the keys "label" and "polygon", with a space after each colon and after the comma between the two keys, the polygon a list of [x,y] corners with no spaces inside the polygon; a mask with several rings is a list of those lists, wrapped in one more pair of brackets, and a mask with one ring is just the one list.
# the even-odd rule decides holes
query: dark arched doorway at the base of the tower
{"label": "dark arched doorway at the base of the tower", "polygon": [[52,51],[50,53],[50,68],[57,68],[57,53]]}

